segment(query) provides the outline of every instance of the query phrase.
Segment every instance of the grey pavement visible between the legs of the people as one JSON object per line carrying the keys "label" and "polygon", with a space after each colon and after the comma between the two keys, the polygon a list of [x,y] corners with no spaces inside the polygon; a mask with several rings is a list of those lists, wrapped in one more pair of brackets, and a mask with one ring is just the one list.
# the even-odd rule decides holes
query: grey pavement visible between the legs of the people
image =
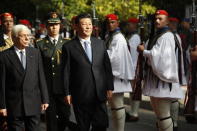
{"label": "grey pavement visible between the legs of the people", "polygon": [[[186,91],[184,89],[184,91]],[[181,100],[180,103],[180,116],[179,116],[179,121],[178,121],[178,131],[197,131],[197,124],[188,124],[185,121],[185,118],[183,116],[183,101]],[[129,110],[129,94],[125,93],[125,107],[126,110]],[[71,120],[75,121],[74,115],[72,113]],[[109,120],[110,120],[110,127],[108,131],[114,131],[112,128],[112,121],[111,121],[111,112],[109,108]],[[152,111],[152,108],[150,106],[150,101],[149,97],[143,96],[143,100],[140,105],[140,110],[139,110],[139,121],[138,122],[126,122],[125,125],[125,131],[157,131],[156,126],[155,126],[155,115],[154,112]],[[42,126],[42,131],[46,131],[45,128],[45,123],[41,124]]]}

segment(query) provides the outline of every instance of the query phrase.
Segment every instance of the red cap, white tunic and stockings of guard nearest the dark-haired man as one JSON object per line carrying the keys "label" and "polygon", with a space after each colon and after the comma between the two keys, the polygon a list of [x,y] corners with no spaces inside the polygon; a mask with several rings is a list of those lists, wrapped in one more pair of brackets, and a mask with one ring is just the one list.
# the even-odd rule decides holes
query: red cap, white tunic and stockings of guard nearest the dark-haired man
{"label": "red cap, white tunic and stockings of guard nearest the dark-haired man", "polygon": [[[108,21],[118,20],[114,14],[106,16]],[[124,131],[125,108],[124,93],[132,92],[131,80],[134,79],[134,66],[125,37],[119,27],[110,32],[106,39],[107,52],[114,76],[114,91],[111,101],[114,131]]]}

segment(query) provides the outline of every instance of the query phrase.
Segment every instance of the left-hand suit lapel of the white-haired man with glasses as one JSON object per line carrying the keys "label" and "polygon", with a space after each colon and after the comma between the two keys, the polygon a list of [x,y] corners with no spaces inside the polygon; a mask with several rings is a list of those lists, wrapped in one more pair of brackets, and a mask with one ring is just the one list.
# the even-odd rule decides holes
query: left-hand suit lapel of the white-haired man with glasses
{"label": "left-hand suit lapel of the white-haired man with glasses", "polygon": [[10,52],[9,55],[7,56],[9,58],[9,60],[12,62],[12,64],[15,66],[15,68],[20,72],[20,73],[24,73],[24,68],[21,64],[21,61],[18,58],[18,55],[15,52],[14,46],[12,46],[10,48]]}

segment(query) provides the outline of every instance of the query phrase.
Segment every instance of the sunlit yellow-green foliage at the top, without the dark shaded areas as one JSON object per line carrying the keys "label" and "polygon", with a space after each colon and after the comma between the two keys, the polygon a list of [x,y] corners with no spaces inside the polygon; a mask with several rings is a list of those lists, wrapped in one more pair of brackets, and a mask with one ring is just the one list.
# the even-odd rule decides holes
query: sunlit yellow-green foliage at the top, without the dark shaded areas
{"label": "sunlit yellow-green foliage at the top, without the dark shaded areas", "polygon": [[[63,1],[64,2],[64,1]],[[53,0],[57,4],[59,13],[64,13],[67,19],[82,12],[92,13],[92,4],[95,4],[97,17],[103,19],[109,13],[118,14],[121,20],[129,17],[137,17],[139,14],[139,0],[66,0],[63,6],[62,0]],[[55,5],[55,4],[53,4]],[[143,2],[142,14],[147,15],[155,12],[155,7]],[[64,11],[64,12],[63,12]]]}

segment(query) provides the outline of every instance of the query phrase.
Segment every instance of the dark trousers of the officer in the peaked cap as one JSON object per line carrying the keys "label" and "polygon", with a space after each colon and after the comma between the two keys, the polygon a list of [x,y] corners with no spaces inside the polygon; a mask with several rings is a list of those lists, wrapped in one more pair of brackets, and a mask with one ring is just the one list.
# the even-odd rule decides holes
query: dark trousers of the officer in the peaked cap
{"label": "dark trousers of the officer in the peaked cap", "polygon": [[70,106],[65,104],[64,97],[50,97],[49,108],[46,111],[47,131],[64,131],[69,125]]}

